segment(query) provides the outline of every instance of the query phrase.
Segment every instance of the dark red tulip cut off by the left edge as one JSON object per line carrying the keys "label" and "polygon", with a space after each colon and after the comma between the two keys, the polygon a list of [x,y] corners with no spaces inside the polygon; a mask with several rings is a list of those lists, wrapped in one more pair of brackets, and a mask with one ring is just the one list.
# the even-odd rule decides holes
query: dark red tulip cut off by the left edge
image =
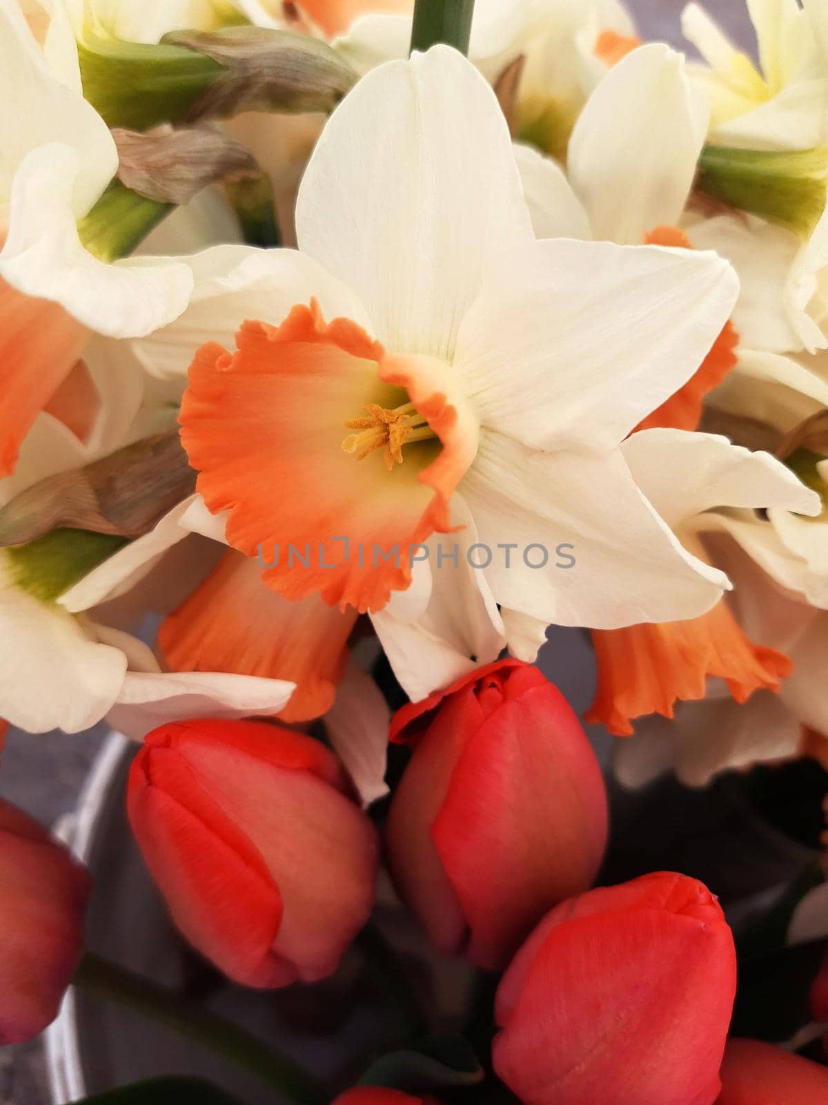
{"label": "dark red tulip cut off by the left edge", "polygon": [[0,1044],[29,1040],[57,1015],[91,890],[65,848],[0,800]]}

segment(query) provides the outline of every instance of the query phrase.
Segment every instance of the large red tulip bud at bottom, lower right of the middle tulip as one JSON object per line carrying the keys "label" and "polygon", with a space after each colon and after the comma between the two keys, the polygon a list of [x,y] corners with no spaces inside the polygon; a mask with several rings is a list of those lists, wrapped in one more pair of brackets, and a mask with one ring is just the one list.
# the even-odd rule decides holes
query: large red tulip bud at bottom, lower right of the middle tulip
{"label": "large red tulip bud at bottom, lower right of the middle tulip", "polygon": [[503,976],[495,1071],[526,1105],[713,1105],[735,985],[731,930],[694,878],[591,891]]}

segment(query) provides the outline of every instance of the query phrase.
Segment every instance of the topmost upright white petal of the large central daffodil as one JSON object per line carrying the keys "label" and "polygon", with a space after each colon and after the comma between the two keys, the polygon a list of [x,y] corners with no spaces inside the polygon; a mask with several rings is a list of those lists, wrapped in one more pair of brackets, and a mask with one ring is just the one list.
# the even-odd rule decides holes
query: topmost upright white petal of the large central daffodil
{"label": "topmost upright white petal of the large central daffodil", "polygon": [[447,46],[369,73],[322,133],[296,228],[391,352],[450,361],[486,259],[531,236],[506,120],[480,74]]}

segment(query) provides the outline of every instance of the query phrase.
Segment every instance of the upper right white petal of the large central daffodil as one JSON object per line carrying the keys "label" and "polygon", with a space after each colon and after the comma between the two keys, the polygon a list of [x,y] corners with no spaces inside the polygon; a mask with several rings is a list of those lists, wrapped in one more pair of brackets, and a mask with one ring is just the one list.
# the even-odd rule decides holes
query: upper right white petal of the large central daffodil
{"label": "upper right white petal of the large central daffodil", "polygon": [[538,449],[612,449],[690,379],[737,292],[712,254],[533,242],[487,273],[456,368],[484,425]]}

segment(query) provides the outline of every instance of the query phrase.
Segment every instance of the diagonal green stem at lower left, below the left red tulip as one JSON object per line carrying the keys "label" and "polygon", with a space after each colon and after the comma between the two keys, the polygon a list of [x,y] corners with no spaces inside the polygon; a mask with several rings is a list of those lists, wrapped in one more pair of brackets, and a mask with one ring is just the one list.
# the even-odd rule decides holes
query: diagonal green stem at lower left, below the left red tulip
{"label": "diagonal green stem at lower left, below the left red tulip", "polygon": [[328,1105],[330,1094],[301,1066],[278,1054],[217,1013],[194,1004],[163,986],[87,951],[73,979],[98,998],[131,1009],[203,1044],[251,1071],[296,1105]]}

